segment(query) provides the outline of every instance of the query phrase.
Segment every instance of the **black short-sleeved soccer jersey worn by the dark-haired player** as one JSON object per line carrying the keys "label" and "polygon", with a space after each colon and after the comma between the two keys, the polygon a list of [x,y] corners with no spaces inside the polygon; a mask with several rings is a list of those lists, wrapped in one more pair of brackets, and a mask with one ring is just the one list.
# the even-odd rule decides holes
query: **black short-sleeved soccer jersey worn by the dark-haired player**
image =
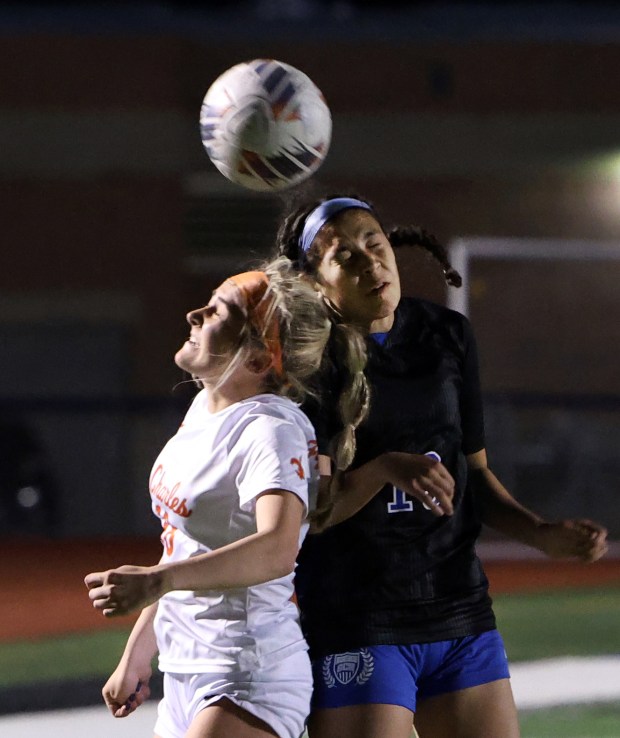
{"label": "black short-sleeved soccer jersey worn by the dark-haired player", "polygon": [[[454,514],[434,516],[386,485],[350,519],[306,538],[296,589],[313,658],[368,645],[475,635],[495,627],[475,553],[480,520],[466,454],[484,448],[475,340],[460,313],[403,298],[383,345],[369,339],[371,411],[354,467],[386,451],[437,452],[456,481]],[[312,417],[319,438],[326,426]]]}

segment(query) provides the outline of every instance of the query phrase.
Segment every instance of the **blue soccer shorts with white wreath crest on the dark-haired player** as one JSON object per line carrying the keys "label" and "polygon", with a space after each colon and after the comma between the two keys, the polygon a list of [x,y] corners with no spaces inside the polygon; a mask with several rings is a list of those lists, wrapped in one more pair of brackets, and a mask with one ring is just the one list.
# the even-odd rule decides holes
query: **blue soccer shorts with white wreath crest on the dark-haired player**
{"label": "blue soccer shorts with white wreath crest on the dark-haired player", "polygon": [[496,630],[436,643],[368,646],[317,659],[313,708],[401,705],[508,679],[508,659]]}

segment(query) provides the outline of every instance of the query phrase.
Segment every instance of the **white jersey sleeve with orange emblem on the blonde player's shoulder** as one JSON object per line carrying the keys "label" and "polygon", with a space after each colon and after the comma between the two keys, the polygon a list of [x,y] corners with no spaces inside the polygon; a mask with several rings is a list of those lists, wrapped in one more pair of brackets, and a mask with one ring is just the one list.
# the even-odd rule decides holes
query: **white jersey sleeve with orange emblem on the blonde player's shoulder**
{"label": "white jersey sleeve with orange emblem on the blonde player's shoulder", "polygon": [[263,416],[244,428],[236,451],[242,454],[236,483],[242,509],[269,489],[296,494],[308,510],[308,439],[296,424]]}

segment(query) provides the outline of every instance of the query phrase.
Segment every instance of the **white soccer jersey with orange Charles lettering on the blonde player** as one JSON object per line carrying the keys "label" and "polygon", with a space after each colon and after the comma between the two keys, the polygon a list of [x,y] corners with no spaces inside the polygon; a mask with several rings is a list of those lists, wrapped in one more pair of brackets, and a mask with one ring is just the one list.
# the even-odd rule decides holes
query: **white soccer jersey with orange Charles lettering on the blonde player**
{"label": "white soccer jersey with orange Charles lettering on the blonde player", "polygon": [[[151,472],[162,561],[255,533],[255,501],[265,490],[289,490],[311,509],[317,458],[314,429],[291,400],[263,394],[211,413],[202,390]],[[293,591],[290,574],[247,588],[168,593],[155,619],[160,669],[246,671],[305,649]]]}

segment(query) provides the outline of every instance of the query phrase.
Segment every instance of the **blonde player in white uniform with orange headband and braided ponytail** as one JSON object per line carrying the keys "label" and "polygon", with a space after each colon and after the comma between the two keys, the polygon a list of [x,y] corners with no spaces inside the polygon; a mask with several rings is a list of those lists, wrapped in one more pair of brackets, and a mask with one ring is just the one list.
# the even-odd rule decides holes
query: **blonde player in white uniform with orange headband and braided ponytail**
{"label": "blonde player in white uniform with orange headband and braided ponytail", "polygon": [[298,738],[312,675],[293,571],[319,474],[297,402],[324,354],[346,349],[343,387],[361,418],[364,342],[352,332],[333,348],[338,329],[286,259],[226,280],[187,321],[175,361],[202,389],[151,472],[162,559],[85,578],[104,615],[143,608],[103,696],[115,717],[133,712],[158,652],[159,738]]}

